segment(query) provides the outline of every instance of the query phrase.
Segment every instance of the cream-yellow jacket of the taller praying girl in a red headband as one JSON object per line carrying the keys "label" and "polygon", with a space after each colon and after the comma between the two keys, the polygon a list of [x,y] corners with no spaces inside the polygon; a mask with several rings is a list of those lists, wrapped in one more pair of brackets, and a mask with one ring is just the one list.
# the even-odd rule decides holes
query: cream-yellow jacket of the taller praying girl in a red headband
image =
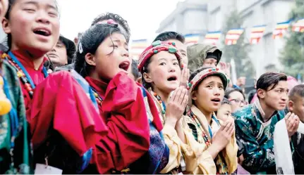
{"label": "cream-yellow jacket of the taller praying girl in a red headband", "polygon": [[[154,98],[154,96],[152,97]],[[154,98],[154,102],[157,105],[159,117],[161,118],[164,126],[164,129],[162,130],[164,134],[164,141],[169,148],[169,162],[166,167],[162,169],[161,174],[176,174],[177,172],[172,170],[180,166],[183,167],[184,174],[202,174],[201,172],[212,174],[213,171],[211,169],[215,169],[212,156],[209,155],[209,153],[204,152],[205,144],[195,141],[192,130],[188,127],[186,122],[186,116],[183,116],[182,120],[183,132],[185,134],[187,143],[183,143],[183,141],[181,141],[181,139],[178,137],[175,128],[164,124],[164,116],[160,112],[161,107],[159,103],[157,103],[156,98]],[[183,160],[185,161],[184,164]]]}

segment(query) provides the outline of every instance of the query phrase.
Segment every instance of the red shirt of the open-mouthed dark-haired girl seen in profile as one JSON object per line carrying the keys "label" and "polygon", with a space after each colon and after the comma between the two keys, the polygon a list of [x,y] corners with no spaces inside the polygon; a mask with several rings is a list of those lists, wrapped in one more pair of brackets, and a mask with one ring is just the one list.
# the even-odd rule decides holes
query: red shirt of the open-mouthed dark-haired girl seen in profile
{"label": "red shirt of the open-mouthed dark-haired girl seen in profile", "polygon": [[[85,79],[104,99],[99,112],[109,129],[107,136],[96,143],[94,163],[100,174],[111,174],[112,169],[121,171],[147,153],[150,146],[142,90],[124,72],[116,74],[109,84]],[[161,122],[157,127],[162,129]]]}

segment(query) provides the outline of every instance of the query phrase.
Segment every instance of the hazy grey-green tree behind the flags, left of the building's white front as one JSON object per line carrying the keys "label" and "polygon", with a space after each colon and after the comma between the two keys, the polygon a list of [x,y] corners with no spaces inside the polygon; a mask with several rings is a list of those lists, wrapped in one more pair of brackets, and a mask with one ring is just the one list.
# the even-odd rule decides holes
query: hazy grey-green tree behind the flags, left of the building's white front
{"label": "hazy grey-green tree behind the flags, left of the building's white front", "polygon": [[[226,36],[226,33],[229,30],[241,28],[242,25],[243,20],[241,15],[239,15],[238,11],[232,11],[225,23],[223,30],[224,36]],[[255,77],[253,63],[248,57],[249,52],[250,44],[245,42],[245,31],[235,45],[225,45],[224,39],[223,55],[228,63],[230,63],[231,58],[234,59],[234,62],[236,63],[236,74],[238,77]]]}

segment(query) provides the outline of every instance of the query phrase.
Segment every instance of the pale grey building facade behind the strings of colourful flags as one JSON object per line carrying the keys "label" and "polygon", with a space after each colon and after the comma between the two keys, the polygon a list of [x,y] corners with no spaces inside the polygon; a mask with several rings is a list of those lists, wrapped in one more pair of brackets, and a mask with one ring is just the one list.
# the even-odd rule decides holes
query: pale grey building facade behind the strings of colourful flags
{"label": "pale grey building facade behind the strings of colourful flags", "polygon": [[[190,4],[197,8],[190,8],[192,7]],[[200,6],[197,4],[200,4]],[[288,13],[294,4],[294,0],[186,0],[180,2],[176,11],[161,22],[157,33],[168,30],[181,32],[182,34],[200,32],[203,39],[207,31],[221,30],[224,27],[226,17],[236,9],[243,18],[242,27],[245,28],[245,36],[248,42],[251,27],[267,25],[262,40],[259,44],[251,45],[249,53],[255,66],[255,76],[259,77],[268,70],[282,69],[279,55],[284,47],[284,39],[273,39],[272,32],[277,22],[289,20]],[[178,23],[180,21],[182,21],[181,24]],[[185,21],[187,23],[183,23]],[[224,35],[221,35],[221,39],[224,39],[224,37]],[[222,47],[221,43],[221,41],[218,42],[219,48]]]}

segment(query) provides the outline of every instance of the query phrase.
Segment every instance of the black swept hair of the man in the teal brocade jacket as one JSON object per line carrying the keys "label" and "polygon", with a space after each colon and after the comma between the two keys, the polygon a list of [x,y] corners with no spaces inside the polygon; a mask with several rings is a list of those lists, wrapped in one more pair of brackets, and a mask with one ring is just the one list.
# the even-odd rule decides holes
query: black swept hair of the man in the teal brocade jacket
{"label": "black swept hair of the man in the teal brocade jacket", "polygon": [[261,77],[257,79],[257,90],[263,89],[265,91],[271,91],[281,81],[287,81],[286,74],[267,72],[262,74]]}

